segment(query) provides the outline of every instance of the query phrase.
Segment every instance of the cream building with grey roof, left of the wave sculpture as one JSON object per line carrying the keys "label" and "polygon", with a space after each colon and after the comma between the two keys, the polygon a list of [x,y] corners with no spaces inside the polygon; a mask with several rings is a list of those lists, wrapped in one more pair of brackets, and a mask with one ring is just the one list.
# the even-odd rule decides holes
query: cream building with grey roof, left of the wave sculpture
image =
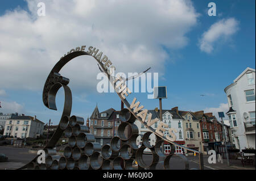
{"label": "cream building with grey roof, left of the wave sculpture", "polygon": [[3,135],[15,138],[36,138],[43,134],[44,123],[36,116],[14,116],[6,121]]}

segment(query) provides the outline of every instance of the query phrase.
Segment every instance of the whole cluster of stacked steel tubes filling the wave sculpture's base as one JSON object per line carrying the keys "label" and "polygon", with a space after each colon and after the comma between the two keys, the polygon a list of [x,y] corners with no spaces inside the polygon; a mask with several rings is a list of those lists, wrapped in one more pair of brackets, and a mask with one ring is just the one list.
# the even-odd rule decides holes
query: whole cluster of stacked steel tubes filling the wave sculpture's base
{"label": "whole cluster of stacked steel tubes filling the wave sculpture's base", "polygon": [[[155,169],[159,157],[164,157],[164,169],[170,169],[170,159],[174,155],[175,146],[171,145],[171,153],[165,155],[162,152],[162,140],[156,136],[156,144],[150,145],[151,132],[146,132],[142,137],[142,145],[137,145],[140,136],[138,128],[134,124],[135,117],[127,109],[121,110],[119,117],[122,123],[118,127],[118,136],[110,141],[110,144],[101,146],[95,142],[94,135],[89,133],[89,128],[84,125],[84,119],[78,116],[64,116],[60,128],[64,129],[64,136],[68,138],[68,146],[64,149],[64,156],[56,155],[55,149],[44,149],[46,163],[31,162],[27,169],[40,170],[133,170]],[[130,134],[126,133],[126,127],[130,127]],[[144,160],[144,149],[151,150],[151,162]],[[185,163],[184,169],[188,169],[188,161],[183,155],[179,155]],[[135,166],[137,161],[138,166]]]}

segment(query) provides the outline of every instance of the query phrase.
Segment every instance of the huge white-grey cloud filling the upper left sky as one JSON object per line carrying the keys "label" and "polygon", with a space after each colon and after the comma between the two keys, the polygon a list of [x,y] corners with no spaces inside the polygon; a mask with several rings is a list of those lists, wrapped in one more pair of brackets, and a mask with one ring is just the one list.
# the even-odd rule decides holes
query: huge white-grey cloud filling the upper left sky
{"label": "huge white-grey cloud filling the upper left sky", "polygon": [[[169,49],[187,45],[197,24],[191,1],[44,1],[46,16],[37,16],[40,1],[27,0],[29,12],[0,16],[0,83],[3,88],[42,90],[49,71],[72,48],[92,45],[108,55],[117,71],[164,73]],[[61,70],[71,87],[96,90],[97,64],[79,57]]]}

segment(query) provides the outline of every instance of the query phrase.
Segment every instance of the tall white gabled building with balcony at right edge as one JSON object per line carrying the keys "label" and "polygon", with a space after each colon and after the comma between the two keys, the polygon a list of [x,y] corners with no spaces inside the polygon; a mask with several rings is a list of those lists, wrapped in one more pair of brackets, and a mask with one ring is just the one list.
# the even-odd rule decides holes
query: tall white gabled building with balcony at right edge
{"label": "tall white gabled building with balcony at right edge", "polygon": [[255,148],[255,69],[245,69],[225,88],[230,128],[237,149]]}

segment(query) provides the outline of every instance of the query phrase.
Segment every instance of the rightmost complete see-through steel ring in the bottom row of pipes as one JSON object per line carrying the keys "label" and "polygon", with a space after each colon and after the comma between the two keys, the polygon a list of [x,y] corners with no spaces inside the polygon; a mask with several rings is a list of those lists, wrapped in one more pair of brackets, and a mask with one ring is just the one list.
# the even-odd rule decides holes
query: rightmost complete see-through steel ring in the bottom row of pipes
{"label": "rightmost complete see-through steel ring in the bottom row of pipes", "polygon": [[157,163],[159,161],[159,156],[155,153],[154,149],[150,149],[151,154],[151,162],[150,164],[146,164],[146,162],[143,160],[143,151],[146,149],[146,147],[141,147],[136,152],[136,161],[138,162],[138,165],[142,168],[147,168],[152,166],[154,163]]}

